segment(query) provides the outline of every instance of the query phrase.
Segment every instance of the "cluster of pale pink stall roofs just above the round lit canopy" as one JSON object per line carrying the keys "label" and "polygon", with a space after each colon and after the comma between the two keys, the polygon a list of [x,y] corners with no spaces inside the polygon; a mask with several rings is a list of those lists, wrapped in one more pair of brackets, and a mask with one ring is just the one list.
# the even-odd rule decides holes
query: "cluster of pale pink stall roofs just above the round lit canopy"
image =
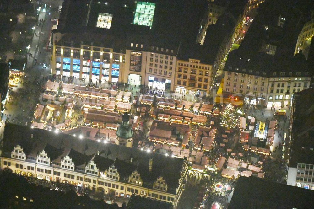
{"label": "cluster of pale pink stall roofs just above the round lit canopy", "polygon": [[[261,168],[258,166],[249,165],[248,163],[241,162],[233,158],[228,158],[226,168],[223,168],[225,162],[226,162],[226,158],[223,156],[220,156],[216,164],[216,168],[218,170],[222,170],[221,175],[224,177],[227,177],[227,178],[233,178],[233,177],[237,178],[238,176],[249,177],[252,174],[260,178],[264,177],[264,173],[261,171]],[[263,164],[260,161],[258,163],[260,165]]]}

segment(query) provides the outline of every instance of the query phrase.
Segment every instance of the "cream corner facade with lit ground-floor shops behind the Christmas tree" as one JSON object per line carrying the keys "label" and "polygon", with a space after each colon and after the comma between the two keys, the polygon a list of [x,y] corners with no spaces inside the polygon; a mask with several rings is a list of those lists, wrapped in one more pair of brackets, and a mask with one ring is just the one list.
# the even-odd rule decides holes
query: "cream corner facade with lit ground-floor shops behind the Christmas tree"
{"label": "cream corner facade with lit ground-floor shops behind the Christmas tree", "polygon": [[225,68],[223,91],[245,95],[244,101],[251,105],[286,107],[295,92],[310,87],[309,72],[273,72],[269,78],[266,72],[244,70]]}

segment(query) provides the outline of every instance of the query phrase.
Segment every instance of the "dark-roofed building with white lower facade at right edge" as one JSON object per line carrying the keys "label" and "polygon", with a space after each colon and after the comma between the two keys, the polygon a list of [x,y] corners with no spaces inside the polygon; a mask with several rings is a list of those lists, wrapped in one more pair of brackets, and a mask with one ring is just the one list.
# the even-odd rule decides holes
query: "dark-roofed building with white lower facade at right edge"
{"label": "dark-roofed building with white lower facade at right edge", "polygon": [[314,89],[295,93],[290,115],[287,185],[314,190]]}

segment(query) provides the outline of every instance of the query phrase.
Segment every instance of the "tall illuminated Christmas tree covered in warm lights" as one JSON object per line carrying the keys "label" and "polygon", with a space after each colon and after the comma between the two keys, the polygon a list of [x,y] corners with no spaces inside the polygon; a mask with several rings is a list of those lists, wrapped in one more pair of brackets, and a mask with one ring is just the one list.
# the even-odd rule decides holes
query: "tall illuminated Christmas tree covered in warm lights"
{"label": "tall illuminated Christmas tree covered in warm lights", "polygon": [[229,103],[221,115],[221,126],[228,129],[239,127],[239,117],[236,116],[236,110],[231,103]]}

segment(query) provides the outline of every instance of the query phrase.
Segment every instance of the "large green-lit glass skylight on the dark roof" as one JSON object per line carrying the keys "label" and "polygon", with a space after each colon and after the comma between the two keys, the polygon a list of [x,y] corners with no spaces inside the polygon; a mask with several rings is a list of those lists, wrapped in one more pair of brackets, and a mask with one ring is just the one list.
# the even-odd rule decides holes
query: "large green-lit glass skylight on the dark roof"
{"label": "large green-lit glass skylight on the dark roof", "polygon": [[150,2],[137,2],[133,19],[135,25],[146,25],[152,27],[155,3]]}

